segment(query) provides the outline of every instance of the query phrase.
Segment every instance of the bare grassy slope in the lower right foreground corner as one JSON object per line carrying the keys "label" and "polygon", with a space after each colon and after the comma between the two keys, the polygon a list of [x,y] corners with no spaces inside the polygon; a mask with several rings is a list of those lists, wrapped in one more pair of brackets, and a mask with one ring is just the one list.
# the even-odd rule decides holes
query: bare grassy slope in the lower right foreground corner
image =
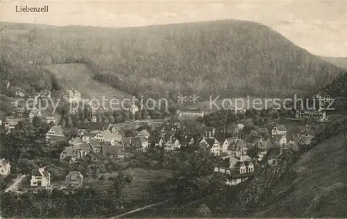
{"label": "bare grassy slope in the lower right foreground corner", "polygon": [[346,133],[331,137],[294,164],[289,161],[257,175],[233,207],[255,218],[345,217],[346,152]]}

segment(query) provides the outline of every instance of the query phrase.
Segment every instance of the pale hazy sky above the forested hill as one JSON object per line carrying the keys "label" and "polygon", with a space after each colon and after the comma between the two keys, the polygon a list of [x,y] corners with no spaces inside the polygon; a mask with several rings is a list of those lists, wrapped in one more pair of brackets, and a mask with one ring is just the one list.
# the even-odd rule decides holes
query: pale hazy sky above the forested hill
{"label": "pale hazy sky above the forested hill", "polygon": [[[49,6],[49,12],[15,12],[15,6]],[[347,0],[0,0],[0,21],[19,23],[124,27],[217,19],[256,21],[315,55],[347,57]]]}

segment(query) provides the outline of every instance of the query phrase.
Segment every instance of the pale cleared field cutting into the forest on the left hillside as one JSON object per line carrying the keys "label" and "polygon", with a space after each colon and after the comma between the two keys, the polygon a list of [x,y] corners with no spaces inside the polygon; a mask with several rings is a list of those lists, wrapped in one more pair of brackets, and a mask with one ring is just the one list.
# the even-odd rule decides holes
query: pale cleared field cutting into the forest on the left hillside
{"label": "pale cleared field cutting into the forest on the left hillside", "polygon": [[65,89],[78,89],[83,98],[131,98],[130,94],[119,91],[93,79],[93,73],[85,64],[52,64],[44,69],[53,72]]}

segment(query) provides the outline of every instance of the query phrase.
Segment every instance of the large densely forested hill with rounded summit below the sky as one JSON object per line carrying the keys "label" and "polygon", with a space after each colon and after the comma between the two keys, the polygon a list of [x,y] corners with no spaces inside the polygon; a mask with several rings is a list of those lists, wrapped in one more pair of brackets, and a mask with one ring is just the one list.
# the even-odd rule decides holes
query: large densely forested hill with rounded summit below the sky
{"label": "large densely forested hill with rounded summit below the sky", "polygon": [[130,94],[306,94],[341,71],[251,21],[141,28],[2,25],[7,31],[0,47],[11,65],[81,62],[97,80]]}

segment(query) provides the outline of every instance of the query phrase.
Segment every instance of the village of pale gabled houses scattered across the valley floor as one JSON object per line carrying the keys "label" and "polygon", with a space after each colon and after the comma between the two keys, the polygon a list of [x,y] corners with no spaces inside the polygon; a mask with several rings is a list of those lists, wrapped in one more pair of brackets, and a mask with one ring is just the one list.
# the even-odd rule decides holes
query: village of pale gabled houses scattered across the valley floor
{"label": "village of pale gabled houses scattered across the valley floor", "polygon": [[[16,92],[17,94],[17,92]],[[19,91],[17,94],[23,97]],[[50,91],[44,91],[38,96],[51,98]],[[81,101],[81,93],[77,90],[65,91],[63,96],[68,103]],[[317,94],[313,97],[321,99]],[[329,100],[323,96],[323,100]],[[135,109],[135,110],[134,110]],[[136,105],[129,107],[131,114],[139,111]],[[69,112],[73,113],[73,112]],[[245,112],[239,112],[245,113]],[[87,160],[87,163],[97,164],[101,159],[114,159],[119,162],[130,157],[133,153],[144,152],[151,148],[159,148],[167,153],[175,153],[180,150],[196,152],[203,150],[209,152],[215,157],[219,157],[220,162],[212,170],[215,174],[226,174],[226,184],[230,186],[237,185],[253,177],[261,168],[278,165],[278,159],[295,155],[301,148],[310,145],[314,132],[310,128],[301,128],[287,131],[286,125],[281,124],[278,117],[268,125],[249,128],[249,124],[240,121],[236,123],[235,128],[230,130],[228,137],[224,134],[217,134],[217,127],[203,125],[201,135],[193,136],[182,134],[180,119],[202,118],[205,112],[178,112],[176,120],[158,119],[142,121],[126,121],[125,123],[110,123],[97,121],[95,112],[85,116],[84,121],[79,122],[72,127],[76,130],[73,137],[68,134],[69,130],[62,125],[53,115],[44,114],[35,107],[24,110],[17,114],[16,118],[4,119],[1,123],[6,134],[14,132],[17,126],[28,121],[33,123],[35,119],[40,118],[42,123],[47,124],[44,133],[44,141],[47,146],[52,148],[62,148],[58,151],[58,157],[66,164],[78,164],[80,161]],[[296,120],[312,118],[317,122],[328,121],[324,109],[317,111],[300,110],[296,112]],[[288,118],[287,118],[288,119]],[[296,123],[296,121],[294,121]],[[297,127],[297,126],[296,126]],[[69,128],[71,130],[71,127]],[[49,159],[49,157],[47,157]],[[3,177],[10,175],[13,168],[17,165],[9,159],[1,159],[0,174]],[[25,173],[30,183],[26,188],[19,189],[19,182],[24,180],[20,175],[14,179],[6,191],[31,191],[37,192],[41,189],[71,189],[83,186],[83,174],[79,170],[70,170],[66,175],[60,175],[59,178],[65,179],[56,184],[52,180],[52,173],[46,166],[38,166]],[[55,176],[56,178],[57,176]]]}

